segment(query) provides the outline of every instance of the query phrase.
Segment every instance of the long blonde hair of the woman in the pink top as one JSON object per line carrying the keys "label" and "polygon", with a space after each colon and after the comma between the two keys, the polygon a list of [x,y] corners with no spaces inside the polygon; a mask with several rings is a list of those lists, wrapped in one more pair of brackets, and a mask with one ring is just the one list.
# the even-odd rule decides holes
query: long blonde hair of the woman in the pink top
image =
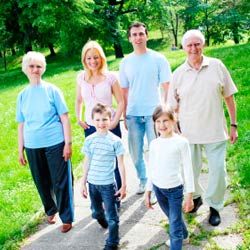
{"label": "long blonde hair of the woman in the pink top", "polygon": [[104,54],[104,51],[103,51],[101,45],[96,41],[89,41],[82,48],[82,64],[83,64],[83,67],[86,71],[86,78],[87,78],[86,80],[89,80],[90,77],[92,76],[92,71],[88,68],[86,61],[85,61],[86,54],[90,49],[96,49],[99,56],[101,57],[101,67],[98,70],[99,73],[104,74],[108,69],[107,59],[106,59],[106,56]]}

